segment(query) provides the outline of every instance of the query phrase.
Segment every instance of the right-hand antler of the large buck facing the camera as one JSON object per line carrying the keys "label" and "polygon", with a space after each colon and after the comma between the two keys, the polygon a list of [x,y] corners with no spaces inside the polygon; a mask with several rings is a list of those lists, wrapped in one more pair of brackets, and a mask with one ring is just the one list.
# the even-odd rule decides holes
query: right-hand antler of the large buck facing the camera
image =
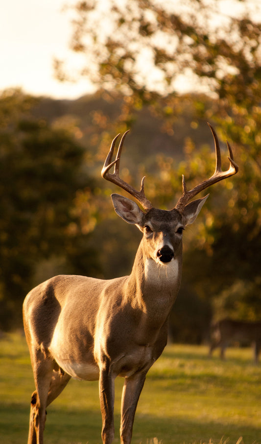
{"label": "right-hand antler of the large buck facing the camera", "polygon": [[220,154],[220,147],[219,147],[218,138],[217,138],[217,135],[216,135],[212,125],[210,123],[208,123],[208,125],[209,125],[209,127],[211,129],[211,132],[213,134],[213,137],[214,137],[215,156],[216,156],[215,172],[214,172],[214,174],[209,179],[204,180],[199,185],[197,185],[196,187],[192,188],[192,190],[190,190],[190,191],[187,191],[187,186],[186,186],[185,178],[184,178],[184,176],[182,176],[183,193],[182,193],[182,196],[180,197],[180,199],[178,200],[178,202],[177,202],[177,204],[175,206],[176,210],[183,211],[185,205],[189,202],[189,200],[192,197],[196,196],[198,193],[200,193],[201,191],[205,190],[206,188],[208,188],[209,186],[213,185],[214,183],[219,182],[220,180],[226,179],[227,177],[230,177],[233,174],[236,174],[238,172],[238,165],[236,164],[236,162],[234,162],[233,151],[232,151],[232,148],[229,145],[228,141],[227,141],[227,147],[228,147],[229,154],[230,154],[230,157],[228,157],[228,159],[230,161],[230,166],[229,166],[229,169],[227,171],[222,171],[222,168],[221,168],[221,154]]}

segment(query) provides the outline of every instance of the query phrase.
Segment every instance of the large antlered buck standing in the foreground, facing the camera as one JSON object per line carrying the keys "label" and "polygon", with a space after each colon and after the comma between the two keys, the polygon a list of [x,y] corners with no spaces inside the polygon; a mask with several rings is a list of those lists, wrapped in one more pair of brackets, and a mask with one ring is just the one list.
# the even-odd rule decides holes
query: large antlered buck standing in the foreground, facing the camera
{"label": "large antlered buck standing in the foreground, facing the camera", "polygon": [[[211,126],[210,126],[211,127]],[[182,268],[182,232],[197,217],[206,197],[189,200],[205,188],[238,171],[221,170],[220,148],[211,127],[216,169],[209,179],[183,194],[170,211],[153,208],[141,191],[119,178],[121,138],[117,136],[105,160],[102,176],[135,197],[139,206],[112,195],[116,213],[137,225],[143,237],[129,276],[100,280],[85,276],[55,276],[34,288],[24,300],[24,330],[30,350],[36,391],[31,398],[28,443],[43,444],[47,406],[71,377],[99,380],[102,441],[114,438],[114,381],[124,378],[121,399],[121,443],[129,444],[134,415],[146,373],[167,342],[168,317],[177,296]],[[114,165],[114,172],[110,173]]]}

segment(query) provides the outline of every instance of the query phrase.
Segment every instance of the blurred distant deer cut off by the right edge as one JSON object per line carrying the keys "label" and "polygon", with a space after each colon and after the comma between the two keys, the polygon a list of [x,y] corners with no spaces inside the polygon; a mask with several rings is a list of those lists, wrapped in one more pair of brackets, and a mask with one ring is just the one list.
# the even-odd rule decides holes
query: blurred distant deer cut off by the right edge
{"label": "blurred distant deer cut off by the right edge", "polygon": [[235,342],[253,344],[254,361],[257,364],[261,349],[261,322],[222,319],[211,325],[210,355],[215,348],[220,347],[220,358],[224,359],[226,348]]}

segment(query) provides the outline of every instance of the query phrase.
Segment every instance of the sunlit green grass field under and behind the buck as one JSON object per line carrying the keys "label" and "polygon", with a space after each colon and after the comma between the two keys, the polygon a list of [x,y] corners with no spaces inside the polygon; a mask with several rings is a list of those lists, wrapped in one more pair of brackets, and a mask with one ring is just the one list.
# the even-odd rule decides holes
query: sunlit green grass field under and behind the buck
{"label": "sunlit green grass field under and behind the buck", "polygon": [[[119,443],[122,379],[116,380]],[[0,443],[27,442],[34,390],[24,337],[0,339]],[[97,382],[71,380],[48,407],[45,444],[101,443]],[[147,375],[134,421],[133,444],[261,444],[261,364],[250,349],[208,358],[206,346],[168,345]]]}

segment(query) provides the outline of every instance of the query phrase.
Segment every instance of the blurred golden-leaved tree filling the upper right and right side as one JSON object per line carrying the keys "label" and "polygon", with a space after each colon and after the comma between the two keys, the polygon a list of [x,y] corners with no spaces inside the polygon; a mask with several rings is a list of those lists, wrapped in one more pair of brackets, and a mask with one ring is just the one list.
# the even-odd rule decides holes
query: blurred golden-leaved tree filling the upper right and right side
{"label": "blurred golden-leaved tree filling the upper right and right side", "polygon": [[[224,310],[215,305],[214,311],[225,314],[224,289],[237,288],[244,309],[241,304],[227,314],[261,319],[261,3],[111,0],[105,6],[86,0],[72,12],[71,49],[81,61],[75,75],[86,76],[108,100],[123,96],[118,116],[104,120],[99,113],[100,152],[108,133],[135,126],[144,107],[173,135],[183,99],[194,111],[191,127],[208,120],[230,140],[239,173],[211,190],[205,223],[188,236],[184,274],[190,293],[206,303],[220,295]],[[66,63],[56,60],[55,67],[58,78],[66,78]],[[179,88],[190,94],[179,97]],[[191,185],[212,174],[209,147],[188,137],[183,151],[180,164],[159,156],[160,174],[147,178],[147,194],[156,204],[173,199],[181,173]]]}

